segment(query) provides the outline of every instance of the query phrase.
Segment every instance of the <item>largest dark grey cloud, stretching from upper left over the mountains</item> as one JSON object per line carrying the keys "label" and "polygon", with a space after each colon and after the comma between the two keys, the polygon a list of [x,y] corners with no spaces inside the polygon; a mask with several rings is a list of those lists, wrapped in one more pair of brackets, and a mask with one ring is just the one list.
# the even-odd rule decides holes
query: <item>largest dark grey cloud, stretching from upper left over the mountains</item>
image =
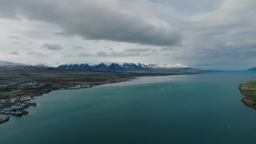
{"label": "largest dark grey cloud, stretching from upper left over the mountains", "polygon": [[157,18],[151,23],[147,17],[122,12],[123,8],[125,10],[117,0],[109,3],[104,0],[7,0],[0,5],[0,16],[20,14],[29,20],[53,23],[62,29],[63,35],[79,35],[84,39],[155,46],[181,44],[181,32],[170,23]]}

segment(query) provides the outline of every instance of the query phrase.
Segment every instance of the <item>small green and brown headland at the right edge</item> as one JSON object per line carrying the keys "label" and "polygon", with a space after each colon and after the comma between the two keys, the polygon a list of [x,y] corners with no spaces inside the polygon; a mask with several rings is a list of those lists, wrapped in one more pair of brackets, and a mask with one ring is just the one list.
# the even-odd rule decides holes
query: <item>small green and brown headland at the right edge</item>
{"label": "small green and brown headland at the right edge", "polygon": [[241,84],[239,89],[246,96],[242,99],[243,103],[256,109],[256,80]]}

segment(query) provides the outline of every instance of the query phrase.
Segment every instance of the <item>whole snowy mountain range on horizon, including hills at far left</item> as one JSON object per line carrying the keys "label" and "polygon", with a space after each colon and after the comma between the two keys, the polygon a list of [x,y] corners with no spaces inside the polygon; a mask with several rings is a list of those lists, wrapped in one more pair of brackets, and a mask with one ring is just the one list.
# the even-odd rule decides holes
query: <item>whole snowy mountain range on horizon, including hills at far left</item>
{"label": "whole snowy mountain range on horizon, including hills at far left", "polygon": [[[52,67],[46,62],[8,62],[0,61],[0,70],[9,69],[82,69],[100,72],[174,72],[174,73],[201,73],[208,70],[195,69],[182,64],[166,63],[131,63],[131,62],[101,62],[101,63],[66,63],[58,67]],[[210,70],[212,71],[212,70]]]}

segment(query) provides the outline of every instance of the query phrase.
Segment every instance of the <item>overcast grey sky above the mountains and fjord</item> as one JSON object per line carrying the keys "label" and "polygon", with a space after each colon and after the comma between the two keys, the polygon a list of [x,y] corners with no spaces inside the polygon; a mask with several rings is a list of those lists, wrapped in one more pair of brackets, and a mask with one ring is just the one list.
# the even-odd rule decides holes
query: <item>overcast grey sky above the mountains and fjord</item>
{"label": "overcast grey sky above the mountains and fjord", "polygon": [[256,0],[0,0],[0,60],[256,66]]}

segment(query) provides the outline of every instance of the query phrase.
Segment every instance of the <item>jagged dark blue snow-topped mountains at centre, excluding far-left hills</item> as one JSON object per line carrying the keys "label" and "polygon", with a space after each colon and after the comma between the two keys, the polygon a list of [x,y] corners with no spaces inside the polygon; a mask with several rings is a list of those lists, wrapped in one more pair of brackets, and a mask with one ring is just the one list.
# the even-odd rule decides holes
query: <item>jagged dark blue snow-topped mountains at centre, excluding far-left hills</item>
{"label": "jagged dark blue snow-topped mountains at centre, excluding far-left hills", "polygon": [[205,72],[202,69],[194,69],[182,64],[166,64],[166,63],[115,63],[101,62],[98,64],[92,63],[66,63],[59,65],[59,69],[84,69],[103,72]]}

